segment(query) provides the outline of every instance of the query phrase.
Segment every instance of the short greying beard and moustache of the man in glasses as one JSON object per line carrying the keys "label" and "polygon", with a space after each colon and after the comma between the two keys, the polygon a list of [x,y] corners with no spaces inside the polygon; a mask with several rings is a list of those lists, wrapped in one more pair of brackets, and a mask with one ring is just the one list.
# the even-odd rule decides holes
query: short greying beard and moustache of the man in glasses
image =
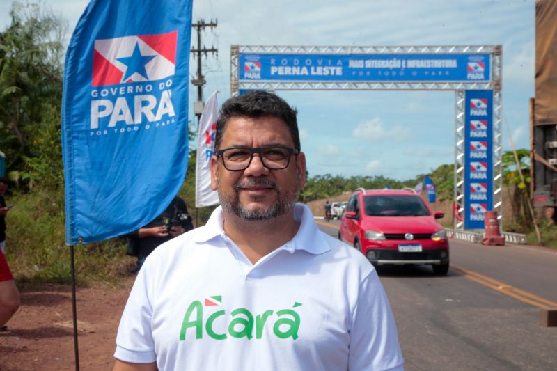
{"label": "short greying beard and moustache of the man in glasses", "polygon": [[[276,203],[270,207],[257,207],[251,210],[246,209],[246,207],[240,203],[240,189],[251,186],[271,187],[274,189],[278,194]],[[298,198],[298,191],[298,176],[296,176],[295,187],[290,190],[283,190],[276,182],[265,177],[254,177],[235,184],[233,195],[228,196],[219,192],[219,200],[224,211],[234,214],[240,217],[240,219],[269,220],[290,212]]]}

